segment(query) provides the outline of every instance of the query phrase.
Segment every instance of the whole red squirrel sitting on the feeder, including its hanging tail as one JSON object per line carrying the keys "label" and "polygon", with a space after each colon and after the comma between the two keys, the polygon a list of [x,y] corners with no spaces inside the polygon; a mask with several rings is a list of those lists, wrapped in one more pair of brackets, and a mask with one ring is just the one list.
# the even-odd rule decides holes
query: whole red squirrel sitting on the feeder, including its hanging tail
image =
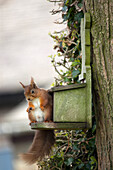
{"label": "whole red squirrel sitting on the feeder, including its hanging tail", "polygon": [[[39,88],[33,78],[30,85],[20,84],[24,88],[24,95],[28,101],[28,117],[30,123],[52,121],[52,96],[47,90]],[[55,136],[53,130],[37,130],[28,153],[21,154],[21,158],[27,163],[33,164],[49,155],[54,145]]]}

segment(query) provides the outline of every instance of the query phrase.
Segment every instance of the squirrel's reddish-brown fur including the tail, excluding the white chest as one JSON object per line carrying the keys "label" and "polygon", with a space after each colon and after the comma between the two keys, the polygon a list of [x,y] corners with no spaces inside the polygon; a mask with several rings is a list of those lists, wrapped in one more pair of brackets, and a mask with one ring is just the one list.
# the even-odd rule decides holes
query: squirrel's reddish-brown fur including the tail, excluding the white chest
{"label": "squirrel's reddish-brown fur including the tail, excluding the white chest", "polygon": [[[24,94],[26,99],[30,98],[32,101],[35,98],[39,98],[40,100],[40,108],[45,113],[45,121],[52,120],[52,97],[48,94],[48,92],[44,89],[40,89],[34,83],[34,80],[31,79],[31,84],[28,86],[24,86],[20,83],[24,88]],[[32,93],[32,90],[34,93]],[[29,112],[29,108],[31,107],[31,103],[29,102],[29,107],[27,111]],[[34,108],[34,106],[32,106]],[[33,115],[29,117],[30,121],[34,121]],[[24,159],[29,164],[35,163],[37,160],[43,159],[46,155],[49,155],[51,147],[54,145],[54,131],[53,130],[40,130],[35,133],[35,137],[33,139],[33,143],[28,150],[28,153],[22,154],[21,158]]]}

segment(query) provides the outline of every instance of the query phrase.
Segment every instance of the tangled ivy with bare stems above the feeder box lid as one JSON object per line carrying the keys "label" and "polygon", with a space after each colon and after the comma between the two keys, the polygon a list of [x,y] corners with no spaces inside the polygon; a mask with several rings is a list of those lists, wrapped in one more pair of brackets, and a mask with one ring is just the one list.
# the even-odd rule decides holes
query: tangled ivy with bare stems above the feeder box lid
{"label": "tangled ivy with bare stems above the feeder box lid", "polygon": [[[53,2],[50,0],[50,2]],[[58,73],[55,77],[55,86],[73,84],[78,82],[81,72],[81,44],[80,21],[83,15],[82,0],[63,0],[58,2],[60,8],[52,10],[52,14],[61,13],[62,22],[66,22],[66,28],[60,32],[54,32],[50,36],[54,39],[54,49],[57,54],[50,55],[51,62]]]}

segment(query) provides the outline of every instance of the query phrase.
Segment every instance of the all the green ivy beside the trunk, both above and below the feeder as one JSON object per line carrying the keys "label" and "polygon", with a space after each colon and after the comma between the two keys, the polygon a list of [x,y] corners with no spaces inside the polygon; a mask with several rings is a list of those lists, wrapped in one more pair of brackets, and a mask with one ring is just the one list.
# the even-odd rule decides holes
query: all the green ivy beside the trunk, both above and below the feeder
{"label": "all the green ivy beside the trunk, both above and below the feeder", "polygon": [[[54,32],[55,55],[50,55],[52,65],[58,73],[54,86],[78,83],[81,72],[80,21],[84,16],[83,0],[49,0],[58,3],[59,8],[52,10],[52,15],[62,14],[66,28]],[[93,113],[93,125],[89,130],[56,131],[56,144],[51,156],[38,163],[39,169],[45,170],[97,170],[95,146],[96,122]]]}

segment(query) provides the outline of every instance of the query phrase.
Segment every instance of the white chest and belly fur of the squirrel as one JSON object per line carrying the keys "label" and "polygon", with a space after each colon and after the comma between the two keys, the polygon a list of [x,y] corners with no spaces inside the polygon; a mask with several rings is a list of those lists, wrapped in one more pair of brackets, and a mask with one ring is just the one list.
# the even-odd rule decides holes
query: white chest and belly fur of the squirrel
{"label": "white chest and belly fur of the squirrel", "polygon": [[35,106],[34,115],[36,118],[36,121],[42,122],[44,121],[44,112],[40,109],[40,100],[39,98],[36,98],[32,101],[32,104]]}

